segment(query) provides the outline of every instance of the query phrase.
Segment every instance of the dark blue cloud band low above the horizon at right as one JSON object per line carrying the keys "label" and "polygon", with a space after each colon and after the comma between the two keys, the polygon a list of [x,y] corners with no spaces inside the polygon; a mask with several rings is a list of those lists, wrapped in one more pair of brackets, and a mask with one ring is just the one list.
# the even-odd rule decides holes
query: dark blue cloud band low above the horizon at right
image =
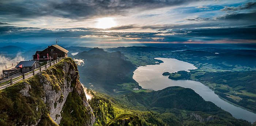
{"label": "dark blue cloud band low above the horizon at right", "polygon": [[[162,33],[108,33],[108,36],[121,37],[119,41],[139,42],[186,42],[216,40],[256,39],[256,26],[242,28],[204,28],[193,30],[173,30]],[[129,38],[129,39],[127,39]],[[134,39],[132,39],[134,38]],[[136,39],[140,38],[140,39]],[[131,40],[132,39],[132,40]]]}

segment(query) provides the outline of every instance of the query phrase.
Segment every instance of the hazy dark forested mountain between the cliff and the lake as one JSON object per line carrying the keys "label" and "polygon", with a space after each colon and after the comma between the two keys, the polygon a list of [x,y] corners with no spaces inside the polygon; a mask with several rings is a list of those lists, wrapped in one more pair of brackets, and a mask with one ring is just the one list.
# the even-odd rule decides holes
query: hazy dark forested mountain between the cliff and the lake
{"label": "hazy dark forested mountain between the cliff and the lake", "polygon": [[[118,84],[136,83],[132,79],[135,65],[126,61],[120,52],[107,53],[103,49],[94,48],[79,53],[74,58],[84,60],[84,65],[78,66],[78,69],[80,80],[86,87],[111,94],[131,92]],[[138,84],[134,86],[139,88]]]}

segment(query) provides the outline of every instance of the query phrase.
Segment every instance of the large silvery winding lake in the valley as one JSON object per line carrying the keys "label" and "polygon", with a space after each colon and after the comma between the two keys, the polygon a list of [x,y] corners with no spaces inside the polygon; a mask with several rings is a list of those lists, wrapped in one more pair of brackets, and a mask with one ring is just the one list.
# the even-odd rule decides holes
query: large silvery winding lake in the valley
{"label": "large silvery winding lake in the valley", "polygon": [[221,107],[223,110],[230,112],[233,117],[238,119],[245,119],[249,122],[256,121],[256,114],[247,111],[243,108],[234,106],[219,98],[218,95],[214,93],[206,85],[192,80],[171,80],[168,76],[163,76],[163,72],[177,72],[180,70],[196,69],[193,64],[188,62],[179,61],[173,58],[155,58],[157,60],[162,60],[163,63],[159,65],[146,65],[138,67],[133,73],[133,79],[136,80],[142,88],[153,89],[155,91],[164,89],[170,86],[180,86],[184,88],[191,88],[206,101],[211,101],[217,106]]}

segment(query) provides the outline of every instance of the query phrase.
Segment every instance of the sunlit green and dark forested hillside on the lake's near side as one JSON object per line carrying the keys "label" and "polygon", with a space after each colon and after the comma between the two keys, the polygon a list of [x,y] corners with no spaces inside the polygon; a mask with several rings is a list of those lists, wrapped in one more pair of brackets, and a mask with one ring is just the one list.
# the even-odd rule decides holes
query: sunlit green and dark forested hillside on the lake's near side
{"label": "sunlit green and dark forested hillside on the lake's near side", "polygon": [[[96,116],[95,126],[251,126],[251,123],[235,119],[215,104],[206,102],[189,88],[169,87],[114,97],[91,92],[94,92],[94,98],[89,103]],[[188,93],[181,95],[184,92]]]}

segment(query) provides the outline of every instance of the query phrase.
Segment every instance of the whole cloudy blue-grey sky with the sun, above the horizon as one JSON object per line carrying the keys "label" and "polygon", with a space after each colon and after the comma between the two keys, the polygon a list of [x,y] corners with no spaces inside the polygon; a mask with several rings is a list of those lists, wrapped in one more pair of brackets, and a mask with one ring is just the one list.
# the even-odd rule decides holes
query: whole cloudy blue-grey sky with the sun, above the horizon
{"label": "whole cloudy blue-grey sky with the sun, above the horizon", "polygon": [[256,43],[256,0],[0,0],[0,43]]}

